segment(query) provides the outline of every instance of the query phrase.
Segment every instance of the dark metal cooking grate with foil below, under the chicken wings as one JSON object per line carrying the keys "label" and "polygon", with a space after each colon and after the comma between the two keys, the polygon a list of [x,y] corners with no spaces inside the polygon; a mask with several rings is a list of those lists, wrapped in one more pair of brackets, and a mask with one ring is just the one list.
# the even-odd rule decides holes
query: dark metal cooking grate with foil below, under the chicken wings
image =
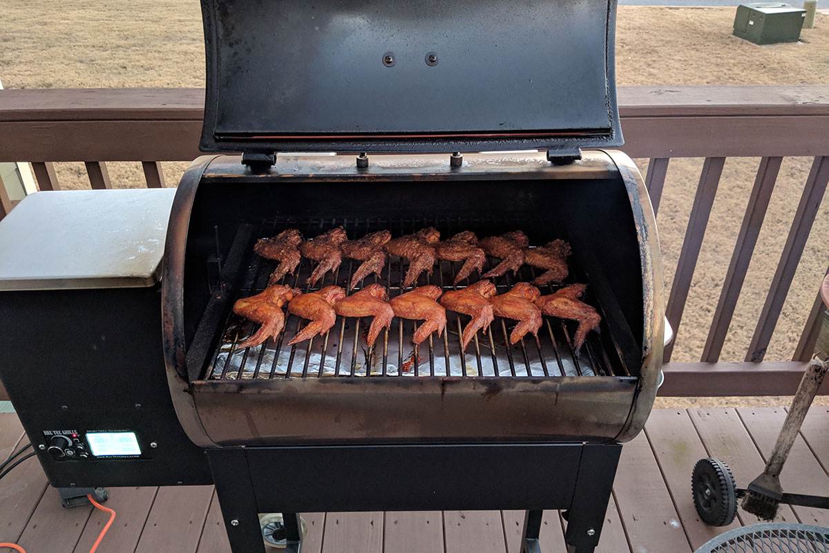
{"label": "dark metal cooking grate with foil below, under the chicken wings", "polygon": [[[300,220],[283,217],[263,224],[260,235],[273,235],[284,228],[296,227],[303,235],[314,236],[332,226],[342,225],[348,230],[349,236],[356,237],[383,228],[392,232],[396,230],[395,235],[405,235],[424,226],[435,226],[444,236],[448,236],[464,229],[492,228],[493,223],[497,221],[409,220],[395,221],[395,225],[390,225],[389,221],[381,218]],[[511,226],[507,225],[507,230],[510,229]],[[252,247],[250,251],[252,252]],[[252,253],[248,262],[238,297],[263,290],[271,270],[274,269],[274,262]],[[316,287],[308,288],[303,284],[313,270],[313,262],[303,258],[295,274],[288,275],[282,284],[290,284],[305,292],[331,284],[347,288],[348,280],[359,263],[354,260],[343,260],[336,274],[327,274]],[[467,283],[457,287],[452,284],[461,264],[441,261],[435,265],[432,275],[421,274],[417,285],[436,284],[444,290],[461,289]],[[378,282],[386,286],[390,297],[399,295],[406,291],[400,288],[406,266],[405,260],[390,256],[383,277],[378,279],[376,275],[371,275],[357,286],[355,291],[364,284]],[[492,260],[488,260],[485,270],[492,266]],[[512,275],[504,276],[496,279],[495,284],[498,293],[503,293],[517,281],[528,281],[534,277],[534,270],[525,266],[518,278]],[[473,279],[477,278],[477,275],[473,275]],[[542,293],[550,293],[556,288],[558,287],[545,287]],[[601,308],[594,302],[594,298],[585,298],[585,301],[599,308],[601,313]],[[595,332],[590,333],[579,354],[574,354],[571,344],[575,323],[555,318],[545,317],[537,341],[531,335],[527,335],[514,346],[509,345],[508,336],[516,322],[496,318],[486,335],[478,332],[470,342],[467,352],[463,352],[460,346],[461,329],[469,320],[466,315],[448,311],[444,335],[437,337],[433,334],[419,346],[410,343],[418,323],[395,318],[390,329],[381,332],[374,347],[369,348],[363,333],[370,320],[338,317],[337,323],[325,336],[314,337],[313,340],[289,347],[287,342],[290,337],[307,322],[286,313],[285,330],[275,342],[269,340],[261,346],[242,349],[236,347],[236,344],[254,332],[256,325],[230,312],[218,334],[219,338],[206,374],[211,379],[221,380],[322,376],[629,376],[618,357],[615,362],[611,361],[607,349],[603,347]],[[602,332],[608,332],[604,326],[603,322]]]}

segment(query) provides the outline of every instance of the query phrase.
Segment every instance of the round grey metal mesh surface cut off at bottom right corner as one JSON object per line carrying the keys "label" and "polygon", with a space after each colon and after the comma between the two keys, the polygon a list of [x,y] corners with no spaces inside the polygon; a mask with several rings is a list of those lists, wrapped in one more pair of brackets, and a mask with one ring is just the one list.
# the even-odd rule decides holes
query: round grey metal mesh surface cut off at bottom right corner
{"label": "round grey metal mesh surface cut off at bottom right corner", "polygon": [[720,534],[696,553],[829,553],[829,528],[788,522],[755,524]]}

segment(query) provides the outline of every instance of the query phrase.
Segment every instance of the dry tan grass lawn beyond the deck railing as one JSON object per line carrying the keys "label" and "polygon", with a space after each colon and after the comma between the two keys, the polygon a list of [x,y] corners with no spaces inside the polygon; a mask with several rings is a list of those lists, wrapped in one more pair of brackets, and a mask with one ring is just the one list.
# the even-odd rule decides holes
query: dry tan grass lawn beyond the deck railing
{"label": "dry tan grass lawn beyond the deck railing", "polygon": [[[829,17],[802,32],[802,43],[755,46],[730,35],[734,8],[620,7],[619,85],[827,84]],[[0,26],[0,79],[7,88],[201,86],[201,15],[196,0],[7,2]],[[647,160],[638,160],[642,171]],[[676,361],[699,358],[758,159],[725,164],[688,298]],[[786,159],[760,235],[723,359],[744,356],[778,262],[810,160]],[[165,164],[168,186],[185,164]],[[87,187],[82,164],[62,163],[64,186]],[[659,212],[667,287],[685,233],[701,160],[671,162]],[[119,186],[138,186],[138,164],[110,163]],[[829,200],[824,200],[768,359],[791,356],[829,264]],[[720,401],[720,400],[717,400]],[[772,400],[780,403],[781,399]],[[726,400],[726,402],[729,402]],[[721,403],[721,401],[720,401]],[[733,403],[733,402],[731,402]],[[710,405],[709,403],[706,405]]]}

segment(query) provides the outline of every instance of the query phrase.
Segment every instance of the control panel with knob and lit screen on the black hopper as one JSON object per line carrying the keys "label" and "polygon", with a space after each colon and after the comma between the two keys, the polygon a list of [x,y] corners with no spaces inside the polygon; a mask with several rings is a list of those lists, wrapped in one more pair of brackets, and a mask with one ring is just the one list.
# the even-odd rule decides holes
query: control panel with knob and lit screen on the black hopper
{"label": "control panel with knob and lit screen on the black hopper", "polygon": [[40,449],[60,461],[144,458],[138,436],[130,430],[44,430]]}

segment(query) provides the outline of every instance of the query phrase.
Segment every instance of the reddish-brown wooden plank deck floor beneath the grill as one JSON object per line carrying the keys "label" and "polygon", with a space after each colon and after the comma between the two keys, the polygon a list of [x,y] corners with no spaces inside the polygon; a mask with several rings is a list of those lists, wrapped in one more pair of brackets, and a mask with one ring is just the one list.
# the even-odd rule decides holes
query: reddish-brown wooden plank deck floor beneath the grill
{"label": "reddish-brown wooden plank deck floor beneath the grill", "polygon": [[[763,468],[785,410],[656,410],[645,432],[623,448],[613,502],[599,551],[693,551],[718,531],[696,518],[691,468],[706,455],[730,463],[739,485]],[[13,414],[0,414],[0,459],[25,444]],[[814,407],[783,471],[789,492],[829,495],[829,409]],[[112,488],[107,505],[118,512],[100,553],[227,553],[229,547],[212,487]],[[787,521],[829,526],[829,511],[782,507]],[[523,513],[366,512],[304,515],[311,553],[519,553]],[[734,524],[757,520],[740,511]],[[34,459],[0,481],[0,541],[30,553],[89,551],[105,517],[91,508],[63,509]],[[563,521],[546,512],[545,553],[564,552]],[[6,549],[0,548],[5,553]]]}

